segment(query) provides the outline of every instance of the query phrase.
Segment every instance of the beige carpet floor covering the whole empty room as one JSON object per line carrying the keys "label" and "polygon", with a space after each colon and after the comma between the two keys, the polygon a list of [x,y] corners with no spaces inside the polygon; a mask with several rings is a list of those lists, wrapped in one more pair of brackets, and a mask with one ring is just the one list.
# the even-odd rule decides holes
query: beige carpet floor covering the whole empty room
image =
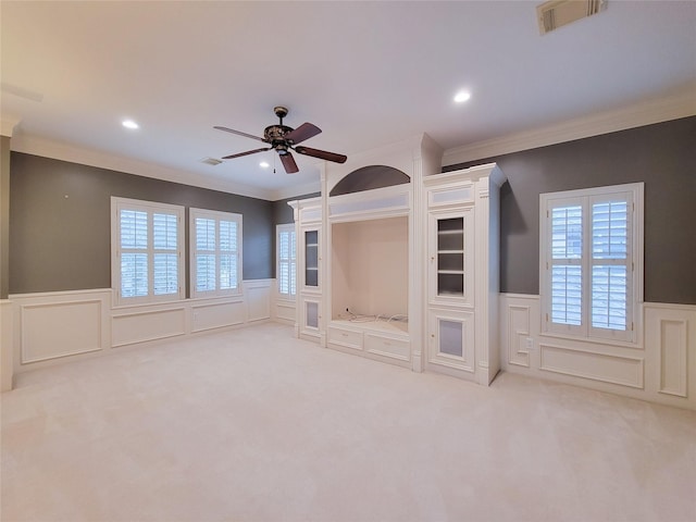
{"label": "beige carpet floor covering the whole empty room", "polygon": [[284,325],[17,381],[4,522],[696,520],[696,412],[417,374]]}

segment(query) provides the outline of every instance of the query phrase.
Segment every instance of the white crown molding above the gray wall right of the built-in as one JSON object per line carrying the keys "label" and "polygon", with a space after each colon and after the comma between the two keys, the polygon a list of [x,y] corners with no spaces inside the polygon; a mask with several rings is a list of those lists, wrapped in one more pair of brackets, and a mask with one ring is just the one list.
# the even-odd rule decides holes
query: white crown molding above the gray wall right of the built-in
{"label": "white crown molding above the gray wall right of the built-in", "polygon": [[696,89],[499,138],[448,149],[443,166],[696,115]]}

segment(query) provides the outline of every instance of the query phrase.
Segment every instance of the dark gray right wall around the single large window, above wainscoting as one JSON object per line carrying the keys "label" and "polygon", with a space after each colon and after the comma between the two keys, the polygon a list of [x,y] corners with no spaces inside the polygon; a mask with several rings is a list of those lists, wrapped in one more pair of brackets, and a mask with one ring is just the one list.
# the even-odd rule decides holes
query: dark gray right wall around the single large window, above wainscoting
{"label": "dark gray right wall around the single large window, above wainscoting", "polygon": [[645,183],[645,300],[696,304],[696,116],[445,169],[495,161],[500,289],[539,293],[539,194]]}

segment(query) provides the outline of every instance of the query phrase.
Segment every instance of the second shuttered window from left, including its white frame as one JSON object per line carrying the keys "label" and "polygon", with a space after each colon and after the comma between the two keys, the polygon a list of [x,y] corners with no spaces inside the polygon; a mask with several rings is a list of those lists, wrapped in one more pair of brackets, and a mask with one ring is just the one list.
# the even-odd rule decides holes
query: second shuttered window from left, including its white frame
{"label": "second shuttered window from left, including its white frame", "polygon": [[239,294],[241,214],[190,209],[191,297]]}

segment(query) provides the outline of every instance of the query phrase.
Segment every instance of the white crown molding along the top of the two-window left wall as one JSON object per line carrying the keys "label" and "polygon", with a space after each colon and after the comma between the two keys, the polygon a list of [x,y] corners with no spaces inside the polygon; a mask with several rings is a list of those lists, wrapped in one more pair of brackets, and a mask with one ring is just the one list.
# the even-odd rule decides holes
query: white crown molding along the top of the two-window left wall
{"label": "white crown molding along the top of the two-window left wall", "polygon": [[[4,125],[4,121],[2,122]],[[26,154],[40,156],[54,160],[69,161],[83,165],[125,172],[137,176],[152,177],[165,182],[181,183],[194,187],[220,190],[223,192],[247,196],[250,198],[271,200],[272,191],[248,185],[215,179],[195,172],[164,167],[145,161],[107,154],[94,150],[77,148],[72,145],[51,141],[35,136],[17,135],[12,138],[10,149]]]}

